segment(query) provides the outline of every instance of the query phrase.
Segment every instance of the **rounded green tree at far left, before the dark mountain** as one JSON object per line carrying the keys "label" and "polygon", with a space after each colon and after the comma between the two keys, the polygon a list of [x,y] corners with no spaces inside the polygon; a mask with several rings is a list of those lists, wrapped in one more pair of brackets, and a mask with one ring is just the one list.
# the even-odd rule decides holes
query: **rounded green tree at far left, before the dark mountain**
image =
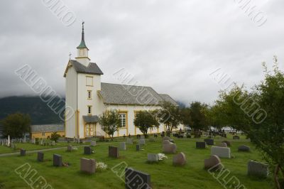
{"label": "rounded green tree at far left, before the dark mountain", "polygon": [[28,114],[9,114],[1,123],[4,137],[10,135],[11,138],[21,138],[30,131],[31,118]]}

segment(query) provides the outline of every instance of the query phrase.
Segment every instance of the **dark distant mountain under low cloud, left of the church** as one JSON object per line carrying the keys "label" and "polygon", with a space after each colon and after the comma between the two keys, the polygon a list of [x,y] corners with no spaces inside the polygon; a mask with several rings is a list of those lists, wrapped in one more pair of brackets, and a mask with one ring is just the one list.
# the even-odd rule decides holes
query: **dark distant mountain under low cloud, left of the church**
{"label": "dark distant mountain under low cloud, left of the church", "polygon": [[0,119],[16,112],[30,114],[32,124],[58,124],[63,121],[40,97],[4,97],[0,99]]}

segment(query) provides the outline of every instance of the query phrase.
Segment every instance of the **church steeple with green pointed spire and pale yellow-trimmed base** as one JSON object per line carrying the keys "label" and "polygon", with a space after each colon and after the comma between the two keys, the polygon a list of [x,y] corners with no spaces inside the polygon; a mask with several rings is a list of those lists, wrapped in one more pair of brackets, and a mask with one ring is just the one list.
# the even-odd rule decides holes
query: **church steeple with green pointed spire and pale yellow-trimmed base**
{"label": "church steeple with green pointed spire and pale yellow-trimmed base", "polygon": [[84,21],[82,22],[82,39],[79,46],[77,46],[77,58],[76,60],[84,66],[89,65],[88,57],[89,48],[87,48],[86,43],[84,43]]}

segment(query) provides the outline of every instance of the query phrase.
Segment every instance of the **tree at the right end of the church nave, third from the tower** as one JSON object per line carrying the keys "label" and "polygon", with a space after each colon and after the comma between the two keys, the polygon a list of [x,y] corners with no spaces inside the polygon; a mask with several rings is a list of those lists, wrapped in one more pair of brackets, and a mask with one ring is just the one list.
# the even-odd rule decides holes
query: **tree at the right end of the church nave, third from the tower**
{"label": "tree at the right end of the church nave, third from the tower", "polygon": [[156,114],[158,115],[160,123],[165,124],[167,134],[170,134],[173,129],[178,128],[178,125],[182,123],[180,109],[170,102],[164,101],[162,103],[162,109],[159,109]]}

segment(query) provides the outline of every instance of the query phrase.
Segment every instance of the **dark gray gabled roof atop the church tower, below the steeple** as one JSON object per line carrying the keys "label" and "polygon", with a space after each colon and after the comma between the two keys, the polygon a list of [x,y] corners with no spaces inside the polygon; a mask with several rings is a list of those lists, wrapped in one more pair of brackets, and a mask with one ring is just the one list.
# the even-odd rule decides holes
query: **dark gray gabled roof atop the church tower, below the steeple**
{"label": "dark gray gabled roof atop the church tower, below the steeple", "polygon": [[[76,72],[78,73],[87,73],[87,74],[94,74],[94,75],[103,75],[101,69],[99,69],[99,66],[96,63],[89,63],[89,65],[86,67],[82,65],[81,63],[78,63],[76,60],[70,60],[71,65],[75,68]],[[65,71],[66,75],[66,71]]]}

